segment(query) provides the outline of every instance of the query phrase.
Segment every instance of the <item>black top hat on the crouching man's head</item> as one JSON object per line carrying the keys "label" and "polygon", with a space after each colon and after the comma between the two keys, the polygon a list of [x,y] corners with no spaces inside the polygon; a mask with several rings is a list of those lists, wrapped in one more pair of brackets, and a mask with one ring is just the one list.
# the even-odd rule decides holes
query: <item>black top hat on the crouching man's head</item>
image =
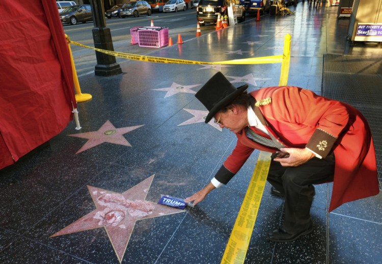
{"label": "black top hat on the crouching man's head", "polygon": [[213,75],[195,95],[209,111],[204,122],[208,123],[219,110],[232,103],[247,88],[248,84],[236,88],[221,72]]}

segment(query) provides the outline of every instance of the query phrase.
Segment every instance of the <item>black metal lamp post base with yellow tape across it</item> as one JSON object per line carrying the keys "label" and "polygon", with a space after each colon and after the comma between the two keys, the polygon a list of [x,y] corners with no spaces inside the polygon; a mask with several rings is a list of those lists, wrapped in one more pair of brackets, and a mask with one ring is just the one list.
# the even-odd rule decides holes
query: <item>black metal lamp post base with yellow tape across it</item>
{"label": "black metal lamp post base with yellow tape across it", "polygon": [[[110,28],[106,27],[104,9],[101,0],[90,0],[93,14],[93,40],[94,47],[114,51]],[[122,73],[116,62],[116,57],[96,51],[97,65],[94,73],[98,76],[112,76]]]}

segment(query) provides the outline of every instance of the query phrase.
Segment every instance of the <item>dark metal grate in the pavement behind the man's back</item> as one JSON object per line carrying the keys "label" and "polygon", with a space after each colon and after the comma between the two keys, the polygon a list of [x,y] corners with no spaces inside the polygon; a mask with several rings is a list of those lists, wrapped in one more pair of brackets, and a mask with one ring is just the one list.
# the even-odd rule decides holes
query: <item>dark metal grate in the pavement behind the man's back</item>
{"label": "dark metal grate in the pavement behind the man's back", "polygon": [[356,107],[368,120],[382,189],[382,58],[324,54],[322,95]]}

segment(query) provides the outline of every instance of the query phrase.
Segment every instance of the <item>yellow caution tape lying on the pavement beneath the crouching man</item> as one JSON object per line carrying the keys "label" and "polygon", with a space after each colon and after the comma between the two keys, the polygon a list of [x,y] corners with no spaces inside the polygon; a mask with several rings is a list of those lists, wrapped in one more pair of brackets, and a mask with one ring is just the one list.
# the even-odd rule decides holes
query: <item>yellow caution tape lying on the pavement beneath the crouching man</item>
{"label": "yellow caution tape lying on the pavement beneath the crouching man", "polygon": [[224,251],[221,264],[244,263],[259,211],[261,197],[263,196],[269,165],[269,153],[261,151],[226,250]]}

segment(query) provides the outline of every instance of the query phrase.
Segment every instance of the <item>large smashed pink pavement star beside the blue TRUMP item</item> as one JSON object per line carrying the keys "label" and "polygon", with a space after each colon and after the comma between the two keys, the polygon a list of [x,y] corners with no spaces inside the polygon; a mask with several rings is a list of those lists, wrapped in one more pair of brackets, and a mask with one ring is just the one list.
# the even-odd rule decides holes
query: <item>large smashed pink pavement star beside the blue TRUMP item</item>
{"label": "large smashed pink pavement star beside the blue TRUMP item", "polygon": [[88,185],[96,209],[50,238],[103,227],[121,262],[136,221],[186,212],[147,201],[153,179],[154,175],[121,194]]}

